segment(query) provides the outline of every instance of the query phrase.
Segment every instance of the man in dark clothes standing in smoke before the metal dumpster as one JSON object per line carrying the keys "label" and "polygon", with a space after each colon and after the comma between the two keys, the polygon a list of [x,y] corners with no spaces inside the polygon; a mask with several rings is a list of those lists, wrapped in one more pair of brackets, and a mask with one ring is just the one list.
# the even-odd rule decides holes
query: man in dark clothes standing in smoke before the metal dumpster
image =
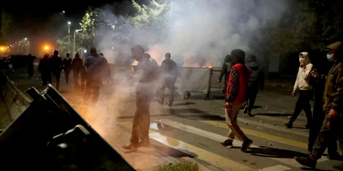
{"label": "man in dark clothes standing in smoke before the metal dumpster", "polygon": [[161,64],[163,83],[161,89],[158,91],[160,103],[163,104],[165,101],[165,88],[168,88],[169,107],[173,105],[175,82],[176,78],[178,77],[178,66],[176,65],[176,62],[170,60],[170,57],[170,53],[165,53],[165,60]]}

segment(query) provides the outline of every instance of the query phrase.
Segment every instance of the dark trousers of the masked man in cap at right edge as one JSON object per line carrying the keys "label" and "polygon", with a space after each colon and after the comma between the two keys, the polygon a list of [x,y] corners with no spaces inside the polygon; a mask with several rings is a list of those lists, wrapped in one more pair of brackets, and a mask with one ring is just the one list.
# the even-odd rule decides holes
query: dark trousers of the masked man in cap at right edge
{"label": "dark trousers of the masked man in cap at right edge", "polygon": [[[328,153],[335,154],[337,153],[337,142],[338,140],[340,143],[343,141],[343,119],[342,116],[338,115],[334,120],[329,120],[328,115],[326,114],[324,118],[324,122],[322,123],[322,128],[320,129],[320,133],[314,143],[314,147],[312,150],[311,155],[316,157],[316,159],[320,159],[324,150],[327,147],[335,147],[329,148]],[[337,138],[337,139],[336,139]],[[333,151],[334,150],[334,151]]]}

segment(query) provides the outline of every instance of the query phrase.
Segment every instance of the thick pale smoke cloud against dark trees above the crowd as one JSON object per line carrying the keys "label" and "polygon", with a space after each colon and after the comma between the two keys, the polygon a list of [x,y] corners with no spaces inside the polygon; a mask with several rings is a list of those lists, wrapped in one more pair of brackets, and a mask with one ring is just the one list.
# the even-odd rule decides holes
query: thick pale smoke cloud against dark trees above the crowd
{"label": "thick pale smoke cloud against dark trees above the crowd", "polygon": [[[285,0],[174,0],[168,3],[167,29],[115,30],[115,35],[130,34],[132,42],[147,47],[147,53],[159,64],[165,53],[170,52],[180,66],[221,66],[225,55],[233,49],[256,53],[258,49],[252,49],[250,40],[259,38],[260,30],[268,23],[278,22],[289,3]],[[104,8],[104,12],[108,21],[119,20],[110,13],[110,8]],[[115,62],[119,49],[130,55],[131,44],[112,42],[110,36],[100,44],[109,62]],[[108,44],[113,44],[115,51]]]}

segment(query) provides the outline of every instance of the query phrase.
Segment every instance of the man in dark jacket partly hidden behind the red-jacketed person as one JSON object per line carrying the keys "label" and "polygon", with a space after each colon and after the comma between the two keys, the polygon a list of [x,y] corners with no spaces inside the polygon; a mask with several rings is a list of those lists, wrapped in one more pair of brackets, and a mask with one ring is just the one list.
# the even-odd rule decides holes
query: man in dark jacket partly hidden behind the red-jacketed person
{"label": "man in dark jacket partly hidden behind the red-jacketed person", "polygon": [[246,106],[244,107],[244,114],[252,116],[251,110],[254,107],[257,92],[259,88],[264,88],[264,73],[262,66],[257,63],[256,56],[250,55],[248,57],[246,67],[250,70],[250,79],[248,83],[248,91],[246,92]]}

